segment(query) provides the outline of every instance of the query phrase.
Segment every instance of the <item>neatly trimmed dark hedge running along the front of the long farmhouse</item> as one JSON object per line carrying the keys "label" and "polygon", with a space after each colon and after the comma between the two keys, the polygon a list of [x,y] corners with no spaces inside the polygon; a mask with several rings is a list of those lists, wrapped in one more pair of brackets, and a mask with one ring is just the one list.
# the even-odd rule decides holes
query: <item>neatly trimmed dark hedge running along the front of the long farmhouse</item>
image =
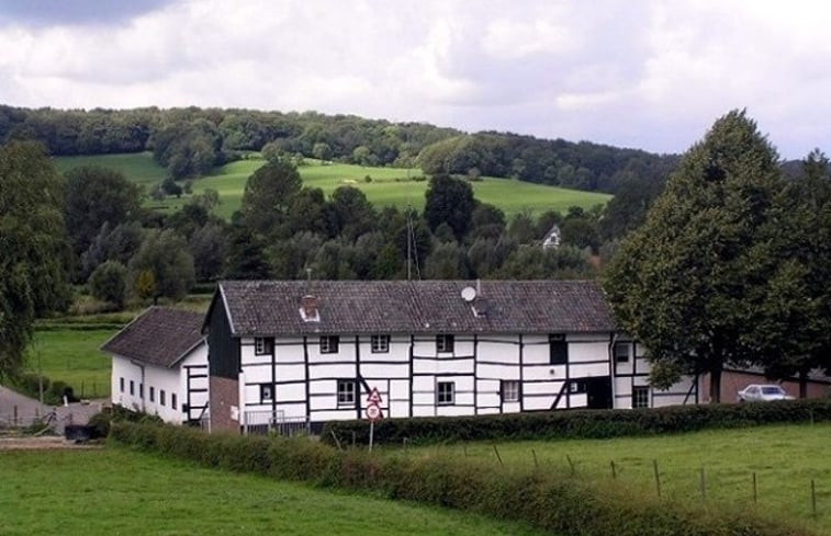
{"label": "neatly trimmed dark hedge running along the front of the long farmhouse", "polygon": [[[374,442],[427,444],[482,440],[604,438],[772,423],[831,420],[831,399],[741,404],[671,406],[637,410],[571,410],[458,418],[384,419]],[[337,441],[336,441],[337,437]],[[367,444],[367,421],[327,423],[322,440]]]}

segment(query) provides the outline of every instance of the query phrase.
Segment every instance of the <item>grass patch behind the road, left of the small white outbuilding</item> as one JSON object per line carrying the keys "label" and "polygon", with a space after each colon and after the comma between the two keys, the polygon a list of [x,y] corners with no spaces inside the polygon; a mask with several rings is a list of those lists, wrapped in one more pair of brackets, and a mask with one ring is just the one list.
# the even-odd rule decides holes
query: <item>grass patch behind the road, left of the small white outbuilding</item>
{"label": "grass patch behind the road, left of the small white outbuilding", "polygon": [[56,329],[35,331],[26,352],[25,369],[37,372],[40,356],[43,374],[52,380],[72,386],[82,398],[110,396],[110,357],[98,349],[117,330]]}

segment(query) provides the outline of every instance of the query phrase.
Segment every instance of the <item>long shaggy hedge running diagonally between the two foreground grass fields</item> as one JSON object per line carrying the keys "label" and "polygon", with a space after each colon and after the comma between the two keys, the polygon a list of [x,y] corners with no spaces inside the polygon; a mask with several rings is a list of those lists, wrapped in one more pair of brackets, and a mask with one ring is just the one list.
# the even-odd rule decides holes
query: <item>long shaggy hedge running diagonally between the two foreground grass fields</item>
{"label": "long shaggy hedge running diagonally between the two foreground grass fields", "polygon": [[687,506],[639,494],[617,481],[557,469],[518,471],[475,460],[338,451],[307,437],[205,434],[113,422],[111,440],[209,467],[369,491],[389,499],[524,522],[581,536],[807,536],[804,529],[718,506]]}

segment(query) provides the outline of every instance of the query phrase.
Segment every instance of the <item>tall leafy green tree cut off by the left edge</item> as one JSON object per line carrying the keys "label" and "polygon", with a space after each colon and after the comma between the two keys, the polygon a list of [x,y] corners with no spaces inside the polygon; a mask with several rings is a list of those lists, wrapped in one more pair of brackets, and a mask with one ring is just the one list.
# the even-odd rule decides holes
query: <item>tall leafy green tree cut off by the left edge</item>
{"label": "tall leafy green tree cut off by the left edge", "polygon": [[63,196],[38,144],[0,147],[0,376],[22,363],[35,316],[68,304]]}

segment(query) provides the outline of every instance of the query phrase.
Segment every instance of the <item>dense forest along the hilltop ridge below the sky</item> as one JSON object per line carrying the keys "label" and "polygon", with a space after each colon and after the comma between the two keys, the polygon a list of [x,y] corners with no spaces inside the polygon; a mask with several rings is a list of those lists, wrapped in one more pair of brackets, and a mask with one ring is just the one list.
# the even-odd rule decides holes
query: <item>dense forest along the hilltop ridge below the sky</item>
{"label": "dense forest along the hilltop ridge below the sky", "polygon": [[245,151],[420,167],[426,174],[510,176],[617,193],[632,181],[660,184],[673,156],[512,133],[465,134],[316,112],[234,109],[54,110],[0,106],[0,144],[36,140],[54,156],[153,151],[171,178],[199,176]]}

